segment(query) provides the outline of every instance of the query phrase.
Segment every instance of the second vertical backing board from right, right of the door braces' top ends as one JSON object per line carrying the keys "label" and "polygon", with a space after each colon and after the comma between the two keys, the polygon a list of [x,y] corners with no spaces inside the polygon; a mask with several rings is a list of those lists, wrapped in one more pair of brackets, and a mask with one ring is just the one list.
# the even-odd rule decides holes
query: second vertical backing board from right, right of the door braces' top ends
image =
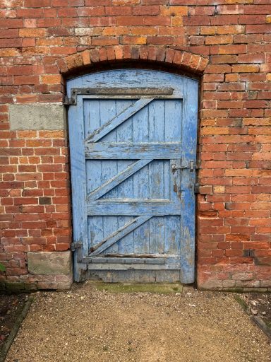
{"label": "second vertical backing board from right, right of the door braces' top ends", "polygon": [[[149,105],[149,141],[164,141],[164,100]],[[150,199],[164,199],[164,160],[153,160],[149,165]],[[164,253],[164,216],[150,220],[150,254]]]}

